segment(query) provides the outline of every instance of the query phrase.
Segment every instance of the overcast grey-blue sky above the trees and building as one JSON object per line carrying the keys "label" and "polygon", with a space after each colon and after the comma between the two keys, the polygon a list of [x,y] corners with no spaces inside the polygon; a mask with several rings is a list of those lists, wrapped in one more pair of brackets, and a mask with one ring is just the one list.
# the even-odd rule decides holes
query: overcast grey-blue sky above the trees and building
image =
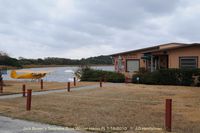
{"label": "overcast grey-blue sky above the trees and building", "polygon": [[0,0],[0,51],[80,59],[200,42],[200,0]]}

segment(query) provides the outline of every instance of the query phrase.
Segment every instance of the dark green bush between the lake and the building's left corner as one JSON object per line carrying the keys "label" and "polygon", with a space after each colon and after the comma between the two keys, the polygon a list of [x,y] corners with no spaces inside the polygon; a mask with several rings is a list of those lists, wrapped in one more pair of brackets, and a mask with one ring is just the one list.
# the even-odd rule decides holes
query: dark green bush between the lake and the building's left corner
{"label": "dark green bush between the lake and the building's left corner", "polygon": [[82,69],[81,81],[99,81],[103,80],[107,82],[122,83],[125,81],[125,76],[116,72],[94,70],[90,68]]}

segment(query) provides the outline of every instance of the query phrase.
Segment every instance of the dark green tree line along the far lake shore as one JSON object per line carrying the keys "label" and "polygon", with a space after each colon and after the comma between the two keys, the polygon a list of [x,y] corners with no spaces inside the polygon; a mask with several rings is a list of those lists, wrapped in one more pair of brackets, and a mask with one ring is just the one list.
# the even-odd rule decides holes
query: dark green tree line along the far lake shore
{"label": "dark green tree line along the far lake shore", "polygon": [[44,59],[12,58],[5,53],[0,53],[0,65],[22,67],[23,65],[112,65],[110,56],[97,56],[82,59],[67,59],[47,57]]}

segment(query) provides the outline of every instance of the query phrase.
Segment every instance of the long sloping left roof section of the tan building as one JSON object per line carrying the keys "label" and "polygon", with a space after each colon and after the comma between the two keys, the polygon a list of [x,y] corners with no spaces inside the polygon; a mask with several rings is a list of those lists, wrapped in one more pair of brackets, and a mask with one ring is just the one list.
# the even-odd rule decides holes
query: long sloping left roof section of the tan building
{"label": "long sloping left roof section of the tan building", "polygon": [[[176,45],[176,46],[170,47],[170,48],[179,48],[179,47],[187,46],[189,44],[185,44],[185,43],[167,43],[167,44],[161,44],[161,45],[156,45],[156,46],[152,46],[152,47],[146,47],[146,48],[141,48],[141,49],[136,49],[136,50],[131,50],[131,51],[115,53],[115,54],[112,54],[110,56],[124,55],[124,54],[129,54],[129,53],[134,53],[134,52],[140,52],[140,51],[144,51],[144,53],[151,52],[151,51],[158,51],[158,50],[161,50],[160,47],[167,46],[167,45]],[[162,50],[164,50],[164,49],[169,49],[169,48],[163,48]]]}

